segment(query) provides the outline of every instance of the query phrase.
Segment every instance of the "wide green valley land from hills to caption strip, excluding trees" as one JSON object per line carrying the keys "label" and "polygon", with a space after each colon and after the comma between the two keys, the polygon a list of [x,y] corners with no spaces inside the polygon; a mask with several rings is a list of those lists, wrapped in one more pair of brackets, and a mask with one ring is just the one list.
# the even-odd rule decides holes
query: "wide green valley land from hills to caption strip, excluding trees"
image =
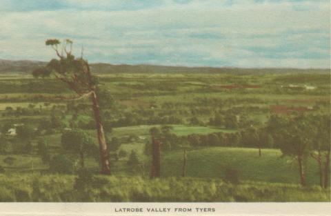
{"label": "wide green valley land from hills to caption strip, excluding trees", "polygon": [[[305,157],[303,165],[306,186],[300,186],[297,157],[286,155],[283,138],[273,132],[276,130],[272,129],[270,120],[274,116],[330,118],[328,72],[265,69],[203,74],[191,72],[190,68],[181,73],[171,70],[94,71],[99,88],[109,93],[109,97],[100,97],[100,101],[113,177],[99,175],[97,131],[89,99],[54,99],[59,95],[72,96],[55,79],[35,79],[30,73],[17,72],[1,75],[0,200],[330,202],[330,189],[321,187],[318,163],[310,155]],[[83,165],[81,155],[63,144],[63,134],[75,128],[83,131],[94,146],[84,152]],[[159,130],[161,142],[161,177],[150,180],[149,146],[153,128]],[[319,129],[323,130],[325,139],[330,137],[330,131]],[[74,141],[70,144],[74,145]],[[42,145],[46,150],[43,151]],[[184,149],[186,170],[185,177],[181,177]],[[313,143],[309,151],[309,154],[317,153]],[[59,170],[61,163],[67,163],[63,170]],[[93,184],[84,198],[74,192],[73,186],[81,166],[92,173],[96,182],[110,181],[116,185],[123,179],[123,191],[112,186],[103,186],[104,191],[99,191]],[[330,169],[327,173],[330,175]],[[25,184],[10,186],[10,182],[18,181],[18,176]],[[50,177],[55,182],[52,192],[46,194],[41,191],[44,188],[40,191],[34,188],[35,181],[49,187]],[[180,184],[192,184],[197,191],[205,192],[194,194],[192,189],[192,194],[182,199],[172,197],[167,187],[174,185],[174,179],[179,182],[178,188]],[[154,189],[159,185],[157,192]],[[207,191],[210,185],[214,189]],[[199,189],[200,186],[204,189]],[[270,191],[266,191],[268,186]],[[72,191],[68,200],[64,192],[57,191],[61,187]],[[252,188],[261,193],[252,192]],[[40,193],[40,199],[36,193]]]}

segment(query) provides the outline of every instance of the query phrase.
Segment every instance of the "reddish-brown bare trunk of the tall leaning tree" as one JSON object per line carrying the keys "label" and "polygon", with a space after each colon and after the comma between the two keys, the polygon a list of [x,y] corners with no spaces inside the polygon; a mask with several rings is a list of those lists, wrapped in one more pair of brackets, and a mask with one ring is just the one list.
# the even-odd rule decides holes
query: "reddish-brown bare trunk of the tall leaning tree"
{"label": "reddish-brown bare trunk of the tall leaning tree", "polygon": [[99,101],[95,92],[92,92],[92,107],[94,112],[94,119],[97,123],[97,132],[98,132],[98,141],[99,141],[99,150],[100,150],[100,160],[101,160],[101,174],[110,174],[110,163],[108,159],[108,150],[105,139],[105,133],[103,131],[101,113],[99,107]]}

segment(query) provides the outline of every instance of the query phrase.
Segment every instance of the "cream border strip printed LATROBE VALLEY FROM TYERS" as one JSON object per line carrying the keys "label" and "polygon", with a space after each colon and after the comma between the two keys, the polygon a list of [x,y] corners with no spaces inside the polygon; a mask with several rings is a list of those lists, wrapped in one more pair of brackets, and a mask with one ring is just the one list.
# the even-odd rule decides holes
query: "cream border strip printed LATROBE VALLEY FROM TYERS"
{"label": "cream border strip printed LATROBE VALLEY FROM TYERS", "polygon": [[[142,208],[141,212],[119,212],[120,208]],[[147,208],[170,212],[152,212]],[[175,212],[175,208],[191,208],[191,212]],[[195,208],[214,208],[214,212],[197,212]],[[150,215],[331,215],[331,203],[1,203],[1,216],[150,216]]]}

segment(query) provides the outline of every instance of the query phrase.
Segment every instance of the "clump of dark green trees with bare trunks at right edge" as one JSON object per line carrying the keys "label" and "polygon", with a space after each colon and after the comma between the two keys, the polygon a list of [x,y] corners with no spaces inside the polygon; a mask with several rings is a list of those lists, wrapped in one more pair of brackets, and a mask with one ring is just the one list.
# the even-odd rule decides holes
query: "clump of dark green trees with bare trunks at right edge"
{"label": "clump of dark green trees with bare trunks at right edge", "polygon": [[306,184],[305,161],[312,157],[317,161],[321,187],[330,186],[330,116],[274,115],[270,117],[268,130],[283,155],[297,159],[301,185]]}

